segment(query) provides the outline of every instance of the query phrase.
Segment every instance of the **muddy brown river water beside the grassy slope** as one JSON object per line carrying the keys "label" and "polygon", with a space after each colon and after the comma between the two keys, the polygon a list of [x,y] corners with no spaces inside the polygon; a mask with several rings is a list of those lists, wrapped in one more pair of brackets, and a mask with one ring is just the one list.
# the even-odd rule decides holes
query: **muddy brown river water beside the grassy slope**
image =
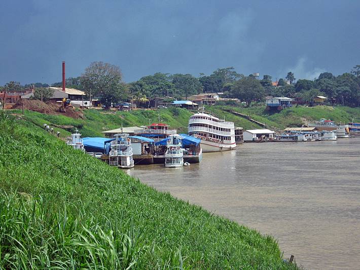
{"label": "muddy brown river water beside the grassy slope", "polygon": [[127,171],[173,196],[271,234],[307,269],[359,269],[360,138],[244,143],[183,168]]}

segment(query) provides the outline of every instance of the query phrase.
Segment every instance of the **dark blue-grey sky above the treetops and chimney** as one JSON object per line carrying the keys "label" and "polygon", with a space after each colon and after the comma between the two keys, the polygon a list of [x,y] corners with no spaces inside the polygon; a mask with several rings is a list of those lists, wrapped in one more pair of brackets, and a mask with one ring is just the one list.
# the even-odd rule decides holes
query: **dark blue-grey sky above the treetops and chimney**
{"label": "dark blue-grey sky above the treetops and chimney", "polygon": [[0,2],[0,85],[61,81],[92,61],[120,66],[124,81],[234,66],[313,79],[360,64],[360,1]]}

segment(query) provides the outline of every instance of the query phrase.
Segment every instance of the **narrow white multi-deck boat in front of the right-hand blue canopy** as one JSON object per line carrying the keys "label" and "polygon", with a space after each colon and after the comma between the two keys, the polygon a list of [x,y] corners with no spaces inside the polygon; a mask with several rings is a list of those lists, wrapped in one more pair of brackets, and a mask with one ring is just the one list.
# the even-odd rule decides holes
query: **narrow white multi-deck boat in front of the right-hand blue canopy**
{"label": "narrow white multi-deck boat in front of the right-hand blue canopy", "polygon": [[165,167],[183,167],[183,148],[181,136],[172,134],[167,139],[167,150],[165,152]]}

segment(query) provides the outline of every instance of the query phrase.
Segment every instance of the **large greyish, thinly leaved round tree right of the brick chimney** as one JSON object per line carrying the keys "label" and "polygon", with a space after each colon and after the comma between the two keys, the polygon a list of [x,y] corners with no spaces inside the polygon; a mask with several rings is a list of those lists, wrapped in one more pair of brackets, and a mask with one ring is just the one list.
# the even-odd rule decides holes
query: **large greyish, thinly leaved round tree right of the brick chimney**
{"label": "large greyish, thinly leaved round tree right of the brick chimney", "polygon": [[105,108],[109,109],[111,103],[120,100],[125,90],[121,79],[122,73],[118,66],[92,62],[81,75],[80,81],[87,94],[97,96]]}

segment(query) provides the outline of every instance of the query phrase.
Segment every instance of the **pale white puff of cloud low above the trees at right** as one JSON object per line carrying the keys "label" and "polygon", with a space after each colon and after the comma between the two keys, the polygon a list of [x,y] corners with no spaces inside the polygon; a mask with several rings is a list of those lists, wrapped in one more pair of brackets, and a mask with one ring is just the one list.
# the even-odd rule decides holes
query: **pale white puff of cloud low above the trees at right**
{"label": "pale white puff of cloud low above the trees at right", "polygon": [[310,67],[312,62],[309,61],[306,57],[300,57],[295,66],[288,67],[282,74],[287,74],[287,72],[292,71],[297,80],[307,79],[314,80],[317,79],[320,73],[326,72],[325,69],[320,67]]}

